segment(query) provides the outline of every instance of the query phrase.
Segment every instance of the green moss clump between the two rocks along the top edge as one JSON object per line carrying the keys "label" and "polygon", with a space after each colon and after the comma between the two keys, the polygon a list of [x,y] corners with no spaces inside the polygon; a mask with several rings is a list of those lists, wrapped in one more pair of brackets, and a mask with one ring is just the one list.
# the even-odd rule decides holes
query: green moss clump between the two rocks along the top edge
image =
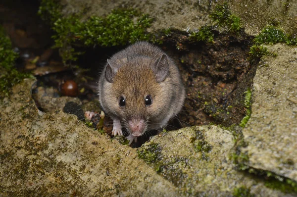
{"label": "green moss clump between the two rocks along the top edge", "polygon": [[228,4],[217,4],[210,18],[220,27],[227,28],[230,32],[238,32],[241,29],[241,22],[238,16],[231,14]]}

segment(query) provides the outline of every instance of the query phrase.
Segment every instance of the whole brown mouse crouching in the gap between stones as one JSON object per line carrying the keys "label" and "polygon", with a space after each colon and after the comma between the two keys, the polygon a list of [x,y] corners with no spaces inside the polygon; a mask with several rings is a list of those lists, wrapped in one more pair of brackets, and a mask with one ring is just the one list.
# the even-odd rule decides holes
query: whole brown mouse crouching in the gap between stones
{"label": "whole brown mouse crouching in the gap between stones", "polygon": [[99,77],[99,102],[113,120],[112,135],[131,145],[146,131],[160,130],[181,110],[185,88],[178,67],[162,49],[137,42],[110,58]]}

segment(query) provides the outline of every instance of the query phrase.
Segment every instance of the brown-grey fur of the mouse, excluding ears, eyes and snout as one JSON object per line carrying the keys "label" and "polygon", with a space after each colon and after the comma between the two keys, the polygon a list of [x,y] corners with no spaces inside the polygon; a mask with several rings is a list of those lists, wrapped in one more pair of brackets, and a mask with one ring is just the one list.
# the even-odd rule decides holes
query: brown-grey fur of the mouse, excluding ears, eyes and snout
{"label": "brown-grey fur of the mouse, excluding ears, eyes and snout", "polygon": [[[174,62],[168,58],[169,74],[162,82],[156,81],[153,72],[152,65],[162,54],[164,52],[161,49],[140,42],[108,60],[116,70],[112,83],[105,79],[105,70],[99,80],[99,100],[107,114],[126,123],[131,119],[142,118],[146,121],[146,128],[158,129],[180,111],[185,90]],[[146,106],[145,98],[148,95],[152,103]],[[126,100],[125,107],[119,106],[121,97]],[[127,124],[122,123],[122,126],[127,128]]]}

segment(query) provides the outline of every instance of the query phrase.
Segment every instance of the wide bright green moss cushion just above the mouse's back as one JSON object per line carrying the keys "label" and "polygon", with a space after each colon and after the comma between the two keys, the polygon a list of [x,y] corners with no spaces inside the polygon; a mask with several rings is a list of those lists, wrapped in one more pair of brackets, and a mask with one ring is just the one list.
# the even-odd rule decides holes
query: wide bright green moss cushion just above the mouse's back
{"label": "wide bright green moss cushion just above the mouse's back", "polygon": [[[134,17],[138,17],[136,22],[133,21]],[[148,41],[150,34],[145,30],[150,26],[151,20],[147,14],[134,9],[115,9],[105,18],[91,17],[78,36],[87,46],[116,46],[139,40]]]}

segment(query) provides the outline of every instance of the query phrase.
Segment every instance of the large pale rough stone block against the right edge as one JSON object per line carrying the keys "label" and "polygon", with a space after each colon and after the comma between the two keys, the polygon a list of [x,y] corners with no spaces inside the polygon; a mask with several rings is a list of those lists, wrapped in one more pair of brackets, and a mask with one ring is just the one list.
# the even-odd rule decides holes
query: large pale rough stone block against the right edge
{"label": "large pale rough stone block against the right edge", "polygon": [[297,181],[297,48],[267,46],[253,80],[251,116],[243,130],[248,166]]}

